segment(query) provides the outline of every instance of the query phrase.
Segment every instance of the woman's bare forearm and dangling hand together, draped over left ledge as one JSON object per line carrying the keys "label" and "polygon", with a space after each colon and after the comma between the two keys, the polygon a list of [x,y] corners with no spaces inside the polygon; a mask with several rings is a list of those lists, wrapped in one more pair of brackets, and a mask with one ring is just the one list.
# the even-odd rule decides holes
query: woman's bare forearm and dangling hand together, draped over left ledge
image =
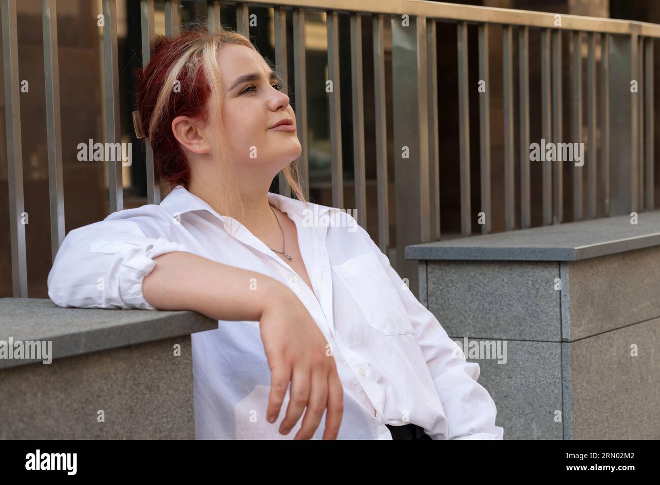
{"label": "woman's bare forearm and dangling hand together, draped over left ledge", "polygon": [[[154,308],[191,309],[217,320],[259,321],[271,368],[269,422],[277,420],[290,381],[290,402],[280,432],[287,434],[307,407],[296,439],[311,438],[327,408],[323,439],[337,437],[344,396],[335,358],[294,292],[270,276],[191,253],[175,251],[154,261],[156,267],[142,284],[145,300]],[[253,291],[255,280],[259,291]]]}

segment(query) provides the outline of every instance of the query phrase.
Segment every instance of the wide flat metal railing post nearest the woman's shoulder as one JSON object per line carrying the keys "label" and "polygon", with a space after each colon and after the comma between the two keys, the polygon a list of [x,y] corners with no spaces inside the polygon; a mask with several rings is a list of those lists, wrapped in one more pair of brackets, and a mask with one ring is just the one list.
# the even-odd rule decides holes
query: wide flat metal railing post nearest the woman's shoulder
{"label": "wide flat metal railing post nearest the woman's shoulder", "polygon": [[394,124],[394,188],[397,201],[397,271],[418,292],[418,263],[405,259],[405,247],[428,242],[428,101],[426,18],[391,16]]}

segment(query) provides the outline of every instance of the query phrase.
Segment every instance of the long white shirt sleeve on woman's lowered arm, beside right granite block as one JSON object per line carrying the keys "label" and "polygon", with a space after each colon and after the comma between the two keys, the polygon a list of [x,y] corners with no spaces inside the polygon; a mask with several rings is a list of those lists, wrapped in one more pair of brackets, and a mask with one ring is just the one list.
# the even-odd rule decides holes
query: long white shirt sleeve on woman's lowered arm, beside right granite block
{"label": "long white shirt sleeve on woman's lowered arm, beside right granite block", "polygon": [[408,289],[401,276],[391,267],[387,256],[363,228],[359,225],[357,227],[397,288],[413,324],[415,339],[422,349],[447,419],[446,439],[502,439],[504,428],[495,426],[495,402],[477,382],[479,364],[465,360],[463,350],[449,338],[433,313]]}

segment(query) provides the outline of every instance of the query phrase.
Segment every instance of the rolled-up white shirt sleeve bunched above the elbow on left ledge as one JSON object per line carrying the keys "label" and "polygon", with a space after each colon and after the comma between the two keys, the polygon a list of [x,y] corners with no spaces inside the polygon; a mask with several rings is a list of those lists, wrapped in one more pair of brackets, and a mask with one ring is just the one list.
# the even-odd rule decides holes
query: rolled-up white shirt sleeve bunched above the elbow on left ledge
{"label": "rolled-up white shirt sleeve bunched above the elbow on left ledge", "polygon": [[187,249],[139,220],[106,218],[69,232],[48,275],[49,298],[61,307],[155,309],[142,292],[153,259]]}

